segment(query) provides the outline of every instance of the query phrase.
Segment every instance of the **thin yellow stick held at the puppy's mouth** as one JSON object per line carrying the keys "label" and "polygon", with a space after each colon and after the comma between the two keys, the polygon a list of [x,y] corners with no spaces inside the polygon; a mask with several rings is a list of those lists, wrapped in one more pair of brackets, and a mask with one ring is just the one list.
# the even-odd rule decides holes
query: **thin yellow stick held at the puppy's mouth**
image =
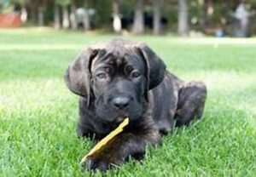
{"label": "thin yellow stick held at the puppy's mouth", "polygon": [[128,125],[129,123],[129,118],[126,117],[125,120],[119,124],[118,128],[115,128],[112,132],[110,132],[110,134],[108,134],[105,138],[103,138],[102,140],[100,140],[100,142],[98,142],[96,144],[96,146],[94,146],[90,152],[83,157],[81,163],[84,163],[86,161],[86,158],[89,157],[90,155],[92,155],[95,151],[99,150],[102,148],[102,146],[106,145],[108,143],[109,140],[113,139],[114,136],[116,136],[117,134],[119,134],[120,132],[123,131],[123,129],[125,128],[126,125]]}

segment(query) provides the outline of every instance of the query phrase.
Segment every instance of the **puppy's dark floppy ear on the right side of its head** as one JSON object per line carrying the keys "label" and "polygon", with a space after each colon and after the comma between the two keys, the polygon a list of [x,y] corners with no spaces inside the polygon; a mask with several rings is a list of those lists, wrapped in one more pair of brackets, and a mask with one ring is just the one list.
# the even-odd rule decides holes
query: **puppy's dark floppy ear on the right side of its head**
{"label": "puppy's dark floppy ear on the right side of its head", "polygon": [[148,90],[155,88],[165,77],[166,65],[146,44],[140,44],[138,49],[141,51],[141,54],[143,54],[143,58],[148,67]]}

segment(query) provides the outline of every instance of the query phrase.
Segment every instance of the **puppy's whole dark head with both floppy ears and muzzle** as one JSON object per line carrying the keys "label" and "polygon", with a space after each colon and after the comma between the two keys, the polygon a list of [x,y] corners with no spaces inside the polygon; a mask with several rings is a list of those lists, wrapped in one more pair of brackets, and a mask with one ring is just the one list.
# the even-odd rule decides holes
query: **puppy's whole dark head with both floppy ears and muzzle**
{"label": "puppy's whole dark head with both floppy ears and muzzle", "polygon": [[114,40],[79,54],[65,81],[88,106],[95,106],[102,121],[132,121],[142,116],[148,90],[160,84],[165,71],[165,64],[145,44]]}

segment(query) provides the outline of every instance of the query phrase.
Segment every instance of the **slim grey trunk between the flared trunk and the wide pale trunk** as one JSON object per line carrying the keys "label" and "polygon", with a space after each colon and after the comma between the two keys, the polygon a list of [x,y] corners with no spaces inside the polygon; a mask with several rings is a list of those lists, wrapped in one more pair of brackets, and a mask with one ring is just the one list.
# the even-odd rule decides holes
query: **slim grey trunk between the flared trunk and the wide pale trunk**
{"label": "slim grey trunk between the flared trunk and the wide pale trunk", "polygon": [[154,35],[160,35],[161,32],[161,5],[162,0],[154,0],[154,23],[153,33]]}

